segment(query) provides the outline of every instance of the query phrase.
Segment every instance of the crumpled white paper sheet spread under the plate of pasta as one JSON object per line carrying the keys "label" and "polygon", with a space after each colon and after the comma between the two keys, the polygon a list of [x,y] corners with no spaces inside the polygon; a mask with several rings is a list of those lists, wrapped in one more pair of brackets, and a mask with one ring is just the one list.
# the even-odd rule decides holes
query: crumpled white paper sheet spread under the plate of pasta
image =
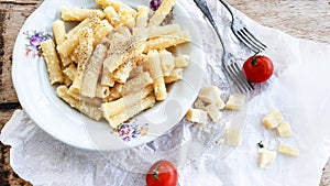
{"label": "crumpled white paper sheet spread under the plate of pasta", "polygon": [[[204,21],[193,1],[180,1],[193,19]],[[218,3],[209,1],[210,9],[228,50],[243,63],[252,53],[245,48],[229,29],[229,14]],[[13,169],[33,185],[145,185],[144,171],[151,157],[168,157],[179,172],[180,186],[311,186],[318,185],[322,167],[330,155],[330,46],[292,37],[280,31],[264,28],[235,10],[249,28],[258,35],[268,48],[264,55],[274,61],[275,75],[268,83],[257,85],[250,95],[246,112],[243,113],[242,144],[224,149],[212,143],[216,138],[199,128],[183,121],[155,141],[131,150],[119,152],[95,152],[75,149],[41,130],[24,111],[18,110],[1,131],[0,140],[11,145],[10,162]],[[217,85],[223,79],[219,58],[220,44],[215,40],[210,26],[201,30],[206,52],[207,74],[205,85]],[[224,77],[226,78],[226,77]],[[279,138],[276,131],[261,124],[262,117],[278,108],[292,123],[293,136]],[[212,129],[212,128],[211,128]],[[218,125],[218,131],[223,125]],[[197,131],[197,132],[196,132]],[[218,132],[217,131],[217,132]],[[198,136],[195,136],[198,134]],[[218,136],[218,135],[217,135]],[[205,139],[206,143],[176,149],[175,155],[166,149],[176,143]],[[221,138],[221,134],[219,134]],[[275,146],[282,141],[300,151],[300,156],[277,154],[271,167],[257,166],[256,143],[271,141]],[[209,143],[211,142],[211,143]],[[195,155],[189,154],[194,152]],[[150,153],[150,156],[148,156]]]}

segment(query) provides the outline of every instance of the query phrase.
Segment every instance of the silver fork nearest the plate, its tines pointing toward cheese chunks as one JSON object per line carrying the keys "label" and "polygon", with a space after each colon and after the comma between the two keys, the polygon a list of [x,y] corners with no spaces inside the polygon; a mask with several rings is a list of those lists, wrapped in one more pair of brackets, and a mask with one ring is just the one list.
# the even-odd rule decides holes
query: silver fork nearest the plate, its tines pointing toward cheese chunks
{"label": "silver fork nearest the plate, its tines pointing toward cheese chunks", "polygon": [[208,8],[206,0],[194,0],[194,1],[195,1],[196,6],[201,10],[204,15],[209,20],[209,22],[211,23],[212,28],[216,31],[217,36],[220,40],[220,43],[221,43],[221,46],[223,50],[222,67],[223,67],[224,72],[233,80],[233,83],[237,85],[237,87],[239,88],[239,90],[241,92],[246,92],[246,91],[253,90],[254,89],[253,85],[246,80],[242,69],[239,67],[238,63],[234,62],[233,55],[226,50],[223,41],[222,41],[220,32],[219,32],[219,29],[213,20],[213,17]]}

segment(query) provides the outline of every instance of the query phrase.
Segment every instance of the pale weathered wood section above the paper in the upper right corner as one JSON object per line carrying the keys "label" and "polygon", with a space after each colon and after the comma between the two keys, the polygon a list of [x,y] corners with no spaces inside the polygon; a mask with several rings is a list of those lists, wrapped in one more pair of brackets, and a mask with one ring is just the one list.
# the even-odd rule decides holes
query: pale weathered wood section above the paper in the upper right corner
{"label": "pale weathered wood section above the paper in the upper right corner", "polygon": [[254,21],[295,37],[330,44],[330,2],[324,0],[227,0]]}

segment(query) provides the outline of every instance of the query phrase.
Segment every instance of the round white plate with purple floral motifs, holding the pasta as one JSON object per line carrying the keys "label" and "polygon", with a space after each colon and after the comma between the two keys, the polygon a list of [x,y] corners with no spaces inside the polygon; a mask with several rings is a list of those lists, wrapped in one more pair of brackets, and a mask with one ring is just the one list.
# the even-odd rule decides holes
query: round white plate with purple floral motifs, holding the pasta
{"label": "round white plate with purple floral motifs, holding the pasta", "polygon": [[[125,3],[148,6],[148,0],[129,0]],[[33,51],[30,51],[30,55],[26,56],[29,41],[24,33],[43,31],[52,34],[52,23],[59,19],[63,6],[97,7],[94,0],[44,1],[22,26],[13,51],[14,87],[23,109],[37,125],[54,138],[73,146],[116,151],[155,140],[183,119],[201,86],[205,58],[199,31],[189,21],[188,13],[179,2],[174,9],[175,22],[189,30],[191,43],[182,45],[177,52],[189,54],[190,65],[184,72],[184,79],[173,85],[165,101],[157,103],[156,107],[139,114],[131,121],[138,127],[147,123],[148,132],[145,136],[131,138],[129,142],[124,142],[123,136],[113,133],[106,121],[94,121],[63,102],[55,94],[56,87],[50,85],[44,59],[33,55]]]}

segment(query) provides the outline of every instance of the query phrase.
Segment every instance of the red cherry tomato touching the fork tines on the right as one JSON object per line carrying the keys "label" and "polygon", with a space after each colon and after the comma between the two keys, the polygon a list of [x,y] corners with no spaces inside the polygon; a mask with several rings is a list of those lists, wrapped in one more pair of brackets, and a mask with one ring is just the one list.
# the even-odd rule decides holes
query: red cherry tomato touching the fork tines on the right
{"label": "red cherry tomato touching the fork tines on the right", "polygon": [[274,72],[273,62],[263,55],[249,57],[243,65],[243,72],[248,80],[252,83],[266,81]]}

